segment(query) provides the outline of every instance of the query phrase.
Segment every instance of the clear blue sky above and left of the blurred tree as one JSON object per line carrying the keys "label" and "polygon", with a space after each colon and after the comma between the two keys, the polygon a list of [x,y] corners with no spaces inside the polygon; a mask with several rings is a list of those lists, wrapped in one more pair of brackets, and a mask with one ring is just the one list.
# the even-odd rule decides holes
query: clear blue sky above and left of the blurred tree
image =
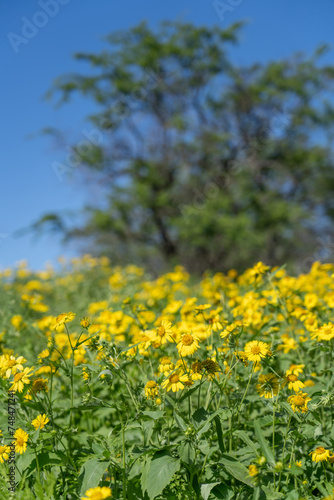
{"label": "clear blue sky above and left of the blurred tree", "polygon": [[[334,42],[333,0],[224,3],[234,6],[220,19],[212,0],[0,0],[0,268],[27,259],[37,269],[58,255],[75,253],[56,237],[37,241],[32,236],[13,237],[45,212],[75,210],[85,203],[87,194],[68,177],[60,182],[52,169],[53,162],[64,160],[66,149],[56,148],[39,134],[52,126],[65,130],[69,137],[80,137],[84,117],[93,109],[79,98],[60,109],[43,99],[57,76],[85,69],[72,59],[73,53],[99,51],[105,46],[104,35],[144,19],[153,27],[165,19],[222,27],[247,20],[234,50],[240,64],[278,59],[296,51],[310,53],[321,43]],[[333,51],[326,60],[334,65]]]}

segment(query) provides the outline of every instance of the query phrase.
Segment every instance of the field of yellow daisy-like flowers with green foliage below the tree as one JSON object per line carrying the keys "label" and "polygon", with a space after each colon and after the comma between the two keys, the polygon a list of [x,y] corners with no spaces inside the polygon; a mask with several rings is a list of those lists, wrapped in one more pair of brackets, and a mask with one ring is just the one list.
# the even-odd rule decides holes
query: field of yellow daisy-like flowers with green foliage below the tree
{"label": "field of yellow daisy-like flowers with green foliage below the tree", "polygon": [[84,256],[0,294],[1,499],[334,499],[334,265]]}

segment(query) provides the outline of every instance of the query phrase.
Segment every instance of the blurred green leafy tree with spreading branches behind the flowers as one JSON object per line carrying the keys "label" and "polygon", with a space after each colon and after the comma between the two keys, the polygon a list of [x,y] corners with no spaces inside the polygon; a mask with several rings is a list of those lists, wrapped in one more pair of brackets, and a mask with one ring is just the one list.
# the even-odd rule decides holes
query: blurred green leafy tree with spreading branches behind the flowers
{"label": "blurred green leafy tree with spreading branches behind the flowers", "polygon": [[[114,262],[202,272],[306,262],[317,237],[332,234],[326,48],[237,67],[228,47],[240,27],[143,23],[110,35],[101,54],[76,55],[92,74],[61,77],[52,95],[78,92],[99,107],[89,117],[96,140],[73,152],[103,203],[67,238]],[[54,214],[45,220],[64,228]]]}

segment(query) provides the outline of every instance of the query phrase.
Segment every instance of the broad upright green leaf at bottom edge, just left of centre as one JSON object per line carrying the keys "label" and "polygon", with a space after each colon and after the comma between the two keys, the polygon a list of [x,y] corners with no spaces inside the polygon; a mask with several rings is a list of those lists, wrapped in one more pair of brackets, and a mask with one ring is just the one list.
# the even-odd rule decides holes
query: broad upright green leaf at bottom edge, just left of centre
{"label": "broad upright green leaf at bottom edge, just left of centre", "polygon": [[155,453],[147,474],[147,493],[150,500],[162,493],[175,472],[180,470],[180,465],[180,460],[171,457],[165,451]]}

